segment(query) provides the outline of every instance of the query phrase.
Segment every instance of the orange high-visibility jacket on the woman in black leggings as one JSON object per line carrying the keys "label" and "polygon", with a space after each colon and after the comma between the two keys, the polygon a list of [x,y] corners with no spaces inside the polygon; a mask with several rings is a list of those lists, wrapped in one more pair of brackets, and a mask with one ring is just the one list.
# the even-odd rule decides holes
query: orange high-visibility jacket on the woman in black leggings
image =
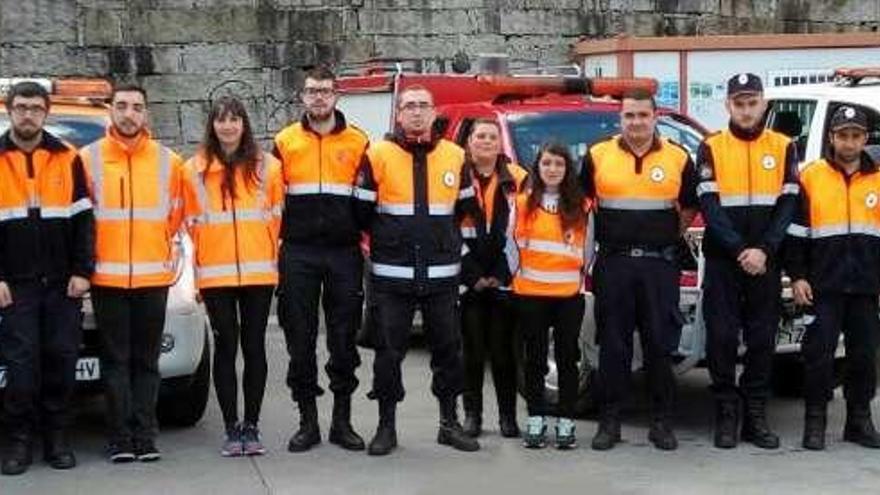
{"label": "orange high-visibility jacket on the woman in black leggings", "polygon": [[187,162],[187,173],[196,193],[195,201],[187,201],[186,223],[195,246],[198,287],[277,284],[281,163],[263,154],[256,183],[237,167],[235,198],[222,191],[224,170],[217,159],[208,164],[198,154]]}

